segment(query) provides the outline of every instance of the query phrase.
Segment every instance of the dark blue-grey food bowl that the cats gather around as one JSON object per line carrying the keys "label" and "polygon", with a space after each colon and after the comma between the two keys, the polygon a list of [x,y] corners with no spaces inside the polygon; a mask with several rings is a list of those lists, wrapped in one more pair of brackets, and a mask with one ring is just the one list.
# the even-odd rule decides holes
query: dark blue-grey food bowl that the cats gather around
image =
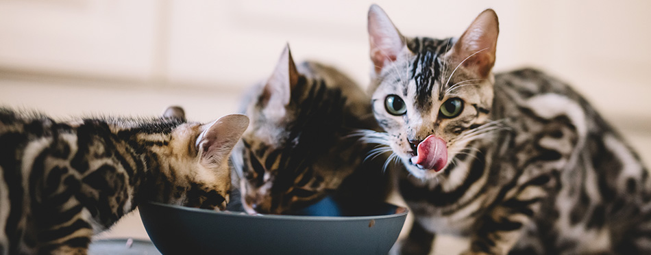
{"label": "dark blue-grey food bowl that the cats gather around", "polygon": [[157,202],[139,206],[162,254],[386,254],[407,210],[364,207],[350,210],[329,198],[297,212],[303,215],[246,215]]}

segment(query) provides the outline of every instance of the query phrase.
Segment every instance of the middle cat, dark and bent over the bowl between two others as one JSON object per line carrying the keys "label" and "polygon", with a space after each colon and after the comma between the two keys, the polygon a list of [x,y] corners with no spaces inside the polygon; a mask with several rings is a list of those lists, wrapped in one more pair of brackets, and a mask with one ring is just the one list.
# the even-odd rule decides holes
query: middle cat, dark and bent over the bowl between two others
{"label": "middle cat, dark and bent over the bowl between two others", "polygon": [[232,157],[245,211],[293,214],[326,196],[342,204],[384,200],[384,160],[371,155],[365,161],[373,146],[355,135],[357,129],[379,131],[369,102],[335,68],[296,66],[286,46],[271,77],[243,100],[251,124]]}

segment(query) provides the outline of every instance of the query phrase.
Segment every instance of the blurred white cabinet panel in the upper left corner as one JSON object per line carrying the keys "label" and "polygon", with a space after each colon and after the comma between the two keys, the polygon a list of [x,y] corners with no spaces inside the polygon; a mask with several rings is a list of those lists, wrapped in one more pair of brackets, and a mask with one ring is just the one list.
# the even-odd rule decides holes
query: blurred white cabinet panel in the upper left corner
{"label": "blurred white cabinet panel in the upper left corner", "polygon": [[0,68],[33,75],[149,79],[155,0],[0,1]]}

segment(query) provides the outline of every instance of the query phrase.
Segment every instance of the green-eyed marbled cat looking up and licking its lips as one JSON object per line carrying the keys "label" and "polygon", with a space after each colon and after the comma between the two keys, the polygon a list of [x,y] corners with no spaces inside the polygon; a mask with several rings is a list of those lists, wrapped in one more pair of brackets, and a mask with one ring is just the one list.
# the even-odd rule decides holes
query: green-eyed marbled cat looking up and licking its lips
{"label": "green-eyed marbled cat looking up and licking its lips", "polygon": [[463,254],[651,254],[646,167],[565,83],[493,74],[493,10],[445,39],[402,36],[378,5],[368,18],[384,132],[367,137],[400,157],[415,216],[395,250],[428,254],[444,233],[469,237]]}

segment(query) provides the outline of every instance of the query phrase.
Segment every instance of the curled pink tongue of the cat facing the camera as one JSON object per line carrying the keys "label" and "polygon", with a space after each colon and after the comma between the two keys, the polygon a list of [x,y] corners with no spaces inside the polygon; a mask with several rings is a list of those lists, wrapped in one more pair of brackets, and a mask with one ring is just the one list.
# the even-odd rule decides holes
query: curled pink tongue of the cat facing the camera
{"label": "curled pink tongue of the cat facing the camera", "polygon": [[426,170],[439,172],[447,164],[447,148],[445,141],[430,135],[418,144],[418,155],[411,158],[411,163],[419,165]]}

